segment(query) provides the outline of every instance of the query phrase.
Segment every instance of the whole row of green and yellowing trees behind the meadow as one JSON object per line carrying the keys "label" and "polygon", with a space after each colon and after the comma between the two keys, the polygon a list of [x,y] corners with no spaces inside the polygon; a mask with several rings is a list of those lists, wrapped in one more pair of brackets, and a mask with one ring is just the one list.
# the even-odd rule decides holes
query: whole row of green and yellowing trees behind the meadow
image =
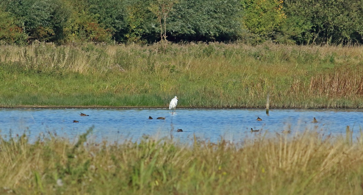
{"label": "whole row of green and yellowing trees behind the meadow", "polygon": [[362,0],[1,0],[0,43],[363,43]]}

